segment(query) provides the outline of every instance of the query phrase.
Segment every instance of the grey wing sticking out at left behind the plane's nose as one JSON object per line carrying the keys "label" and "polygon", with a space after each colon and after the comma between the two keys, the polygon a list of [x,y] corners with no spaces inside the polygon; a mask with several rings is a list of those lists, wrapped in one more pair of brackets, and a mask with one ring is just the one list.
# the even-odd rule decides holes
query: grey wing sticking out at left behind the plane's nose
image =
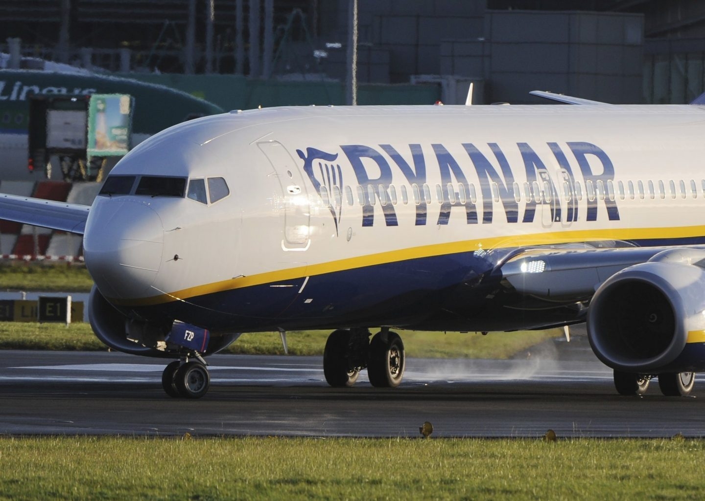
{"label": "grey wing sticking out at left behind the plane's nose", "polygon": [[0,219],[82,235],[89,205],[0,194]]}

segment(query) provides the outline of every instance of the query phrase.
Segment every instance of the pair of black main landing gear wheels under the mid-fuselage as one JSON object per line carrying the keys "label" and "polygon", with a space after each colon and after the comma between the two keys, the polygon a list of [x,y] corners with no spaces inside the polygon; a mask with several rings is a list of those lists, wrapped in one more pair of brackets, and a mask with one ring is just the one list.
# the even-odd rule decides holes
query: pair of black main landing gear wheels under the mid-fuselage
{"label": "pair of black main landing gear wheels under the mid-fuselage", "polygon": [[372,386],[396,388],[404,375],[404,343],[396,332],[382,328],[369,341],[367,329],[333,331],[326,341],[323,372],[329,385],[353,386],[362,369]]}

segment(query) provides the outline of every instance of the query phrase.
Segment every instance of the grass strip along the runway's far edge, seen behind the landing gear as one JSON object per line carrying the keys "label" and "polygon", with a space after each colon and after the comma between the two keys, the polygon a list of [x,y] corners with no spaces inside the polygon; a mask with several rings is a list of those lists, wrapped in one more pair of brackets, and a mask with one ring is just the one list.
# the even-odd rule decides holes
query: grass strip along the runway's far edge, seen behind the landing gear
{"label": "grass strip along the runway's far edge, seen behind the landing gear", "polygon": [[[561,332],[499,332],[443,334],[399,331],[409,357],[510,358]],[[323,355],[328,331],[293,331],[287,336],[291,355]],[[0,350],[106,350],[87,323],[38,324],[0,322]],[[225,353],[283,355],[278,333],[243,334]]]}

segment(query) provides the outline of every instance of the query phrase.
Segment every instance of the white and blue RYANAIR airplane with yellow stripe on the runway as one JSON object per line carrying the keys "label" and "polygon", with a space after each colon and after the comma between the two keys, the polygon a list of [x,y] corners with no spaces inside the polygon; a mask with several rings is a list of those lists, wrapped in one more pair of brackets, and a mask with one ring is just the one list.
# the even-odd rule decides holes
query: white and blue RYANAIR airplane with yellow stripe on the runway
{"label": "white and blue RYANAIR airplane with yellow stripe on the runway", "polygon": [[0,217],[82,234],[95,334],[175,359],[172,397],[243,332],[331,330],[331,386],[396,387],[400,329],[582,322],[618,393],[688,395],[705,107],[539,95],[570,106],[233,110],[143,141],[90,207],[0,195]]}

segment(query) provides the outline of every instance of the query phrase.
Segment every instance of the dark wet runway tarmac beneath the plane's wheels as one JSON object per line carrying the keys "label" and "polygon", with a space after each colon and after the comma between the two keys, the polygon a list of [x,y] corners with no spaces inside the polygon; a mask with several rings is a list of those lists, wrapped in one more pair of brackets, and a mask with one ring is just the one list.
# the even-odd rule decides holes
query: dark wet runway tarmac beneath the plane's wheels
{"label": "dark wet runway tarmac beneath the plane's wheels", "polygon": [[705,381],[694,396],[615,393],[587,338],[545,343],[516,360],[407,359],[403,384],[330,388],[321,357],[209,357],[200,400],[161,389],[159,360],[121,353],[6,351],[0,433],[170,436],[705,436]]}

